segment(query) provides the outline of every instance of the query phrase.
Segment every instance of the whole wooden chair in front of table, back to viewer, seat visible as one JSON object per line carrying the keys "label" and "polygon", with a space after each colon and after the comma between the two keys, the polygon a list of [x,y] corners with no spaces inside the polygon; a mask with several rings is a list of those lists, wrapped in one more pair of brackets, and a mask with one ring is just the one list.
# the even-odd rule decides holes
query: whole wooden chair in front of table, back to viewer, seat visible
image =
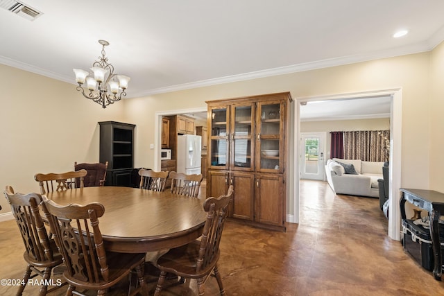
{"label": "whole wooden chair in front of table, back to viewer, seat visible", "polygon": [[142,292],[148,295],[143,270],[145,253],[105,250],[99,228],[99,218],[105,213],[103,204],[61,206],[43,196],[42,208],[67,266],[63,273],[69,284],[67,295],[80,294],[77,288],[97,290],[97,295],[105,295],[107,288],[130,275],[133,269],[140,286],[129,294]]}

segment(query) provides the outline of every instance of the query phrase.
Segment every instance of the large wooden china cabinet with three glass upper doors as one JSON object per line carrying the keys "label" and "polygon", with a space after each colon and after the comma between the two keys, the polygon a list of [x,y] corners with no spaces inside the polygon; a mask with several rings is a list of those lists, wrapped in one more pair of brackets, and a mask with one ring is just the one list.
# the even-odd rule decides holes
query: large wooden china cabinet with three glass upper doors
{"label": "large wooden china cabinet with three glass upper doors", "polygon": [[289,92],[207,101],[207,196],[234,185],[230,217],[285,231]]}

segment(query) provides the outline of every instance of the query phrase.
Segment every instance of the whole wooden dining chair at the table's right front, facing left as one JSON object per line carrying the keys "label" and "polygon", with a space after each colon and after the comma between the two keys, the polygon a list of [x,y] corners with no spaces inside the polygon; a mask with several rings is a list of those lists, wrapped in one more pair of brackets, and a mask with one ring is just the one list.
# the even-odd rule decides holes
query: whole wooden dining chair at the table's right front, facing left
{"label": "whole wooden dining chair at the table's right front, facing left", "polygon": [[160,295],[167,272],[185,279],[197,279],[199,295],[205,294],[205,281],[213,275],[219,285],[219,292],[225,295],[217,262],[220,256],[219,243],[232,193],[233,186],[230,185],[226,195],[205,200],[203,209],[207,212],[207,220],[200,240],[173,248],[157,259],[155,266],[160,269],[160,277],[155,288],[155,296]]}

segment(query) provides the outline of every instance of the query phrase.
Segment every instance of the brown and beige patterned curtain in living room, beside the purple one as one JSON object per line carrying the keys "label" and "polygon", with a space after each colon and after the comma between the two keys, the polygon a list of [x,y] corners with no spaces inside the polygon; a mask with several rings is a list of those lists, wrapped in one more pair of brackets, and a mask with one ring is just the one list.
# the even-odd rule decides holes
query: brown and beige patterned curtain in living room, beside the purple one
{"label": "brown and beige patterned curtain in living room, beside the purple one", "polygon": [[366,162],[388,161],[389,130],[356,130],[344,132],[344,158]]}

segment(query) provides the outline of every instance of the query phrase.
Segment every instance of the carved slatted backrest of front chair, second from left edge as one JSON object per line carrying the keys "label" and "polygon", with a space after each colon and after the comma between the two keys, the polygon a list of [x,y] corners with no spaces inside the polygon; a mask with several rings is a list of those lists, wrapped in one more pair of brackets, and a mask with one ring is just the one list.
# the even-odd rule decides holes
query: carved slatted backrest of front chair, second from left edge
{"label": "carved slatted backrest of front chair, second from left edge", "polygon": [[91,284],[108,281],[108,263],[98,219],[105,213],[103,204],[60,206],[44,198],[42,208],[69,277]]}

